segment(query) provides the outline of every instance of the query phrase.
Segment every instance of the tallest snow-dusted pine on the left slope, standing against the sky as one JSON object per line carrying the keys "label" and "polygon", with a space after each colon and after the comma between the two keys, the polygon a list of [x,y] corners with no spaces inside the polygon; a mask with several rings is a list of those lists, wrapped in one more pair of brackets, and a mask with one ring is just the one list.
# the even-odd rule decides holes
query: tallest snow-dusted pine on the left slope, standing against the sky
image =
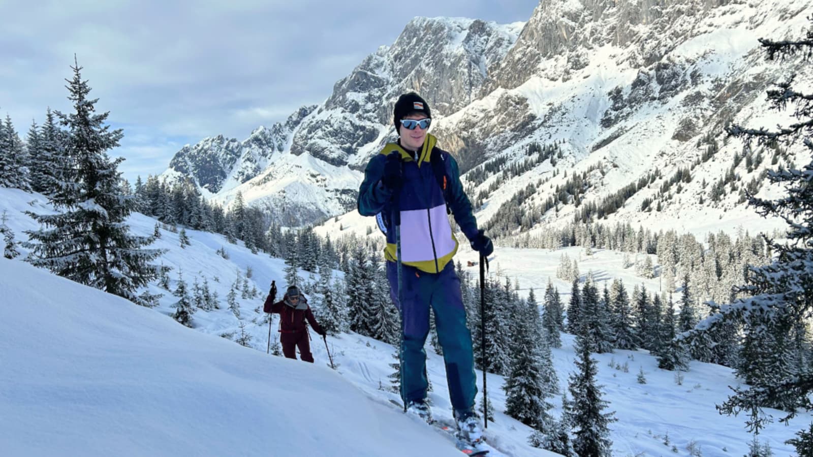
{"label": "tallest snow-dusted pine on the left slope, standing against the sky", "polygon": [[26,232],[32,240],[26,244],[32,250],[28,261],[80,284],[142,303],[136,291],[157,275],[150,261],[162,251],[141,249],[150,238],[133,236],[124,224],[133,209],[132,198],[120,194],[116,168],[124,159],[107,156],[107,150],[119,146],[122,133],[103,125],[108,113],[93,114],[97,100],[87,98],[90,88],[81,79],[81,67],[72,68],[68,98],[76,112],[56,112],[69,130],[69,166],[59,171],[61,181],[48,196],[61,212],[27,213],[45,226]]}

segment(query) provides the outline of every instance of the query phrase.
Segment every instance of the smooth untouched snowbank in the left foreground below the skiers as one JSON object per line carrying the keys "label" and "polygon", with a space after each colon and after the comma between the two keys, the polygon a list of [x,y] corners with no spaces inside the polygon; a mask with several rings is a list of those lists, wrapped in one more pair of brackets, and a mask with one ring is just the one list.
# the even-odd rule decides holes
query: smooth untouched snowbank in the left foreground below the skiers
{"label": "smooth untouched snowbank in the left foreground below the skiers", "polygon": [[[2,455],[358,455],[437,433],[320,364],[265,355],[0,259]],[[421,437],[415,440],[415,437]]]}

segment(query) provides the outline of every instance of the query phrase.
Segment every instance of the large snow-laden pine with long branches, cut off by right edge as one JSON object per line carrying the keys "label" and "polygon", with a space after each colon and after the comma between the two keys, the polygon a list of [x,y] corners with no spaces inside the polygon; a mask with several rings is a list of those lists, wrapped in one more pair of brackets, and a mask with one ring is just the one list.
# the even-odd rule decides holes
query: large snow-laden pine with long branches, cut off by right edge
{"label": "large snow-laden pine with long branches, cut off by right edge", "polygon": [[[767,50],[769,60],[789,58],[800,52],[804,59],[809,59],[813,51],[813,18],[806,37],[799,40],[772,41],[760,39]],[[809,65],[806,64],[807,68]],[[802,94],[793,88],[794,76],[787,81],[776,83],[777,88],[767,92],[767,99],[777,111],[785,111],[790,104],[794,106],[793,116],[798,122],[778,131],[749,129],[739,125],[727,128],[733,137],[742,137],[746,146],[757,141],[759,146],[791,146],[794,141],[802,140],[807,150],[813,153],[813,94]],[[777,341],[791,336],[794,322],[806,320],[813,309],[813,187],[809,185],[813,176],[813,162],[802,169],[788,168],[769,171],[767,179],[777,188],[785,189],[785,195],[774,200],[757,198],[747,194],[749,205],[763,216],[777,217],[789,223],[787,242],[766,239],[770,250],[775,253],[770,263],[762,267],[750,267],[746,285],[733,290],[741,298],[730,305],[720,307],[714,316],[698,324],[695,332],[711,331],[727,322],[734,322],[746,328],[761,325],[766,333],[774,333]],[[783,363],[783,348],[775,346],[772,354],[774,363]],[[766,361],[767,362],[767,361]],[[789,369],[798,370],[790,367]],[[757,376],[759,381],[749,389],[737,388],[734,394],[721,405],[719,410],[725,414],[737,414],[746,411],[750,420],[746,423],[750,430],[759,432],[767,417],[761,411],[763,406],[778,407],[789,411],[786,421],[797,411],[810,411],[811,392],[813,392],[813,372],[809,369],[787,376],[788,369],[777,369],[775,376]],[[745,374],[745,373],[740,373]],[[766,373],[767,374],[767,373]]]}

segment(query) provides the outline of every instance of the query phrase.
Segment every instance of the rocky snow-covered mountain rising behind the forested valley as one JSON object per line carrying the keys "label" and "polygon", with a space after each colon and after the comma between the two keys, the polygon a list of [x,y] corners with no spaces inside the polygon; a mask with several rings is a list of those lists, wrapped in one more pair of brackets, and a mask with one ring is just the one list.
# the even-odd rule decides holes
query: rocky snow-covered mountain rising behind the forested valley
{"label": "rocky snow-covered mountain rising behind the forested valley", "polygon": [[[765,90],[793,72],[799,84],[811,76],[800,71],[801,57],[766,62],[757,38],[801,37],[811,6],[813,0],[554,0],[540,2],[526,23],[416,18],[392,46],[338,81],[324,103],[268,129],[268,141],[253,143],[264,149],[208,138],[182,150],[184,165],[171,164],[167,173],[193,177],[225,202],[240,190],[250,202],[284,208],[287,220],[352,211],[360,170],[394,138],[395,98],[415,89],[433,108],[441,147],[464,172],[475,171],[467,178],[480,196],[478,219],[492,220],[502,233],[517,227],[498,224],[511,209],[500,207],[528,185],[519,203],[526,213],[548,210],[543,202],[568,188],[557,211],[533,221],[537,230],[573,220],[585,211],[582,202],[601,206],[617,193],[620,205],[593,218],[680,225],[680,215],[700,211],[727,220],[742,206],[746,185],[769,191],[760,187],[765,168],[798,161],[793,149],[743,151],[723,128],[786,119],[766,112]],[[529,152],[545,146],[558,148],[553,159]],[[292,192],[293,182],[280,182],[289,175],[278,169],[290,166],[282,159],[289,156],[308,157],[315,173],[329,164],[335,174],[321,183],[302,180]],[[528,167],[505,172],[520,163]],[[568,186],[573,173],[583,178],[577,190]],[[289,209],[299,205],[303,211]]]}

